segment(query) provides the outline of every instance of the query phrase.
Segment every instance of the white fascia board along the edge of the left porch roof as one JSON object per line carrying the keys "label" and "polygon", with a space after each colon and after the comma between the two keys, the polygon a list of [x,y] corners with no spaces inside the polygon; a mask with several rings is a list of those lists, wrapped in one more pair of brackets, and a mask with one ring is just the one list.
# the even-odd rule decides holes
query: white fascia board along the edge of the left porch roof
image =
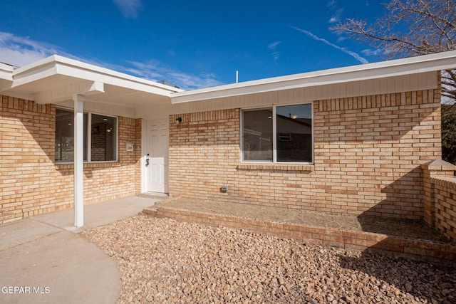
{"label": "white fascia board along the edge of the left porch roof", "polygon": [[162,83],[156,83],[151,80],[145,80],[57,55],[44,58],[41,61],[15,70],[13,73],[13,86],[18,87],[51,75],[66,75],[73,78],[80,78],[81,80],[91,80],[167,97],[170,96],[170,93],[182,91],[168,85],[163,85]]}

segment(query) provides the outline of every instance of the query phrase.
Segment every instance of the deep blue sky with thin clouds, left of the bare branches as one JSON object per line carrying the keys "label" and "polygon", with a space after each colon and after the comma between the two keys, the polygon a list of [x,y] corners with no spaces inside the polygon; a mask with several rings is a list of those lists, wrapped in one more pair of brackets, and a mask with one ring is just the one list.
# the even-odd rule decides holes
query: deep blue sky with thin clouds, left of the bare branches
{"label": "deep blue sky with thin clouds, left of the bare branches", "polygon": [[185,90],[381,61],[328,28],[381,1],[0,0],[0,62],[54,53]]}

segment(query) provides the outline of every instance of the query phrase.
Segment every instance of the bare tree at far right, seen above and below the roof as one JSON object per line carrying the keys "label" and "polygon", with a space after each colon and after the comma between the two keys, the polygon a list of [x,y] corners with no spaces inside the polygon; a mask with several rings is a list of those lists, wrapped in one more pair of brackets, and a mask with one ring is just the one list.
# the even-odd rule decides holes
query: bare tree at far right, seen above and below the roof
{"label": "bare tree at far right, seen above and below the roof", "polygon": [[[373,24],[346,19],[330,29],[383,51],[385,58],[456,50],[456,0],[390,0],[383,6],[385,15]],[[456,70],[441,75],[442,147],[456,162]]]}

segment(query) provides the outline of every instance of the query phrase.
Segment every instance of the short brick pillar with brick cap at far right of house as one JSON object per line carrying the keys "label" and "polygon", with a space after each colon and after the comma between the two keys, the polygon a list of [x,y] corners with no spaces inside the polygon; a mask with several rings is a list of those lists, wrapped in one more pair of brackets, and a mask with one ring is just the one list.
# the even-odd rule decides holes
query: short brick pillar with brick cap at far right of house
{"label": "short brick pillar with brick cap at far right of house", "polygon": [[435,226],[435,187],[432,178],[455,177],[456,166],[442,159],[435,159],[421,165],[423,169],[423,220]]}

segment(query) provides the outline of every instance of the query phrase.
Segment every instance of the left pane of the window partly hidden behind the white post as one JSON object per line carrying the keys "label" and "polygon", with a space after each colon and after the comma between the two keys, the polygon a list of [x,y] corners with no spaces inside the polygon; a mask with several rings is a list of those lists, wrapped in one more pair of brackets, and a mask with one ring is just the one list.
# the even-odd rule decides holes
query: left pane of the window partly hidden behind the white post
{"label": "left pane of the window partly hidden behind the white post", "polygon": [[[74,112],[56,109],[56,162],[73,162]],[[87,160],[87,114],[84,114],[84,160]]]}

